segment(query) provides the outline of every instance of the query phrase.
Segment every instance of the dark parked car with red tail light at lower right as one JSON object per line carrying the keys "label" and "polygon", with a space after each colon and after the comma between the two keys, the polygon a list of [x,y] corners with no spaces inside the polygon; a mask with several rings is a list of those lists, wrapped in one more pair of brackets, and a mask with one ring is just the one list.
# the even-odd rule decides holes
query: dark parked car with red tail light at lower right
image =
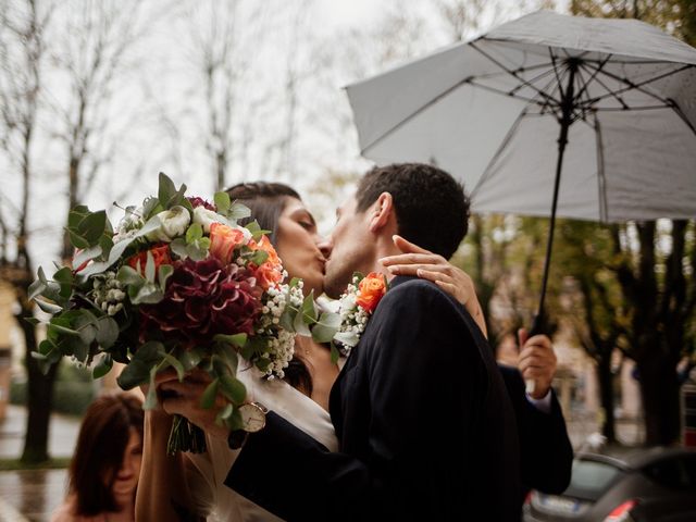
{"label": "dark parked car with red tail light at lower right", "polygon": [[695,522],[696,451],[577,455],[568,489],[533,492],[523,512],[525,522]]}

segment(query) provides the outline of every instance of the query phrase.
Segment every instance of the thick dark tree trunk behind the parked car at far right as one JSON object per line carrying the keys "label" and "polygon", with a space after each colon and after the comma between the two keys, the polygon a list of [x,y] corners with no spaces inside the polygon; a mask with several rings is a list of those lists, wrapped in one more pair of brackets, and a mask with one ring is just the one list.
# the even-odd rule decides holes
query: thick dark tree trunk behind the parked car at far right
{"label": "thick dark tree trunk behind the parked car at far right", "polygon": [[646,446],[669,446],[679,440],[679,383],[670,359],[658,356],[638,362]]}

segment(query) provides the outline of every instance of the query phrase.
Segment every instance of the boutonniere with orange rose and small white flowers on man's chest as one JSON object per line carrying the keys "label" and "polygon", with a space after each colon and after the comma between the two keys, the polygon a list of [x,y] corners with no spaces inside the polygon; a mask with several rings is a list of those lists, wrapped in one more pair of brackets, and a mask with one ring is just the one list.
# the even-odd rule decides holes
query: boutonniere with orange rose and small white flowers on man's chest
{"label": "boutonniere with orange rose and small white flowers on man's chest", "polygon": [[370,316],[385,296],[389,285],[384,274],[371,272],[366,276],[356,272],[352,282],[338,299],[340,326],[334,336],[343,355],[360,341]]}

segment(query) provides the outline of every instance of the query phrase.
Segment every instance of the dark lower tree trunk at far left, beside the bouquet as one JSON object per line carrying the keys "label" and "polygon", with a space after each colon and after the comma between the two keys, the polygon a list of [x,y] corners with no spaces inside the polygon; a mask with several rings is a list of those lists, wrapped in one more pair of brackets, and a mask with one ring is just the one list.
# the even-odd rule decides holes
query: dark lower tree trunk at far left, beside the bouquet
{"label": "dark lower tree trunk at far left, beside the bouquet", "polygon": [[36,350],[36,327],[27,323],[24,318],[32,316],[32,309],[22,307],[22,314],[17,321],[24,334],[26,353],[24,362],[27,371],[27,425],[24,439],[22,462],[37,463],[49,459],[48,428],[53,403],[53,383],[58,364],[53,364],[48,374],[41,373],[39,365],[32,357]]}

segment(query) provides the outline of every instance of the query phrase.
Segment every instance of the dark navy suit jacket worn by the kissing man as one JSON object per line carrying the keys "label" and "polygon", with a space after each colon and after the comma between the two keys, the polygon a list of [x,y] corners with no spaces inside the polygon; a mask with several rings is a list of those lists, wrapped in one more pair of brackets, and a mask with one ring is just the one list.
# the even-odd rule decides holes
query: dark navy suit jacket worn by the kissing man
{"label": "dark navy suit jacket worn by the kissing man", "polygon": [[396,277],[330,411],[340,451],[270,413],[225,483],[288,521],[519,520],[517,422],[468,312]]}

